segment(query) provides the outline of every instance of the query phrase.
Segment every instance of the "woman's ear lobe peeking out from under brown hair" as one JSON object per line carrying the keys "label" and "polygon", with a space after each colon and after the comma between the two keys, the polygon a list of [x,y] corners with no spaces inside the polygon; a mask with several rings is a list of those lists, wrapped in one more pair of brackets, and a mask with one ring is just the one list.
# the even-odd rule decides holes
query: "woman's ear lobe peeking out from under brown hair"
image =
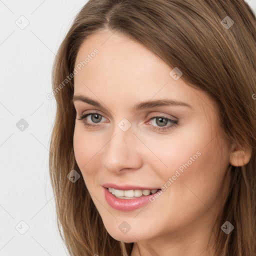
{"label": "woman's ear lobe peeking out from under brown hair", "polygon": [[243,166],[247,164],[251,157],[252,148],[248,145],[238,146],[237,144],[232,144],[231,152],[229,157],[229,162],[233,166]]}

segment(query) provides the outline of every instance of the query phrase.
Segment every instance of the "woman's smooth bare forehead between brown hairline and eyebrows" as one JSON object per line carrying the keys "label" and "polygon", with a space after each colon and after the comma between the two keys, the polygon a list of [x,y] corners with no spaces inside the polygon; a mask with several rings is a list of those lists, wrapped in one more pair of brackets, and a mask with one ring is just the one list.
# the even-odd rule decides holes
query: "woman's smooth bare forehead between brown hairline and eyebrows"
{"label": "woman's smooth bare forehead between brown hairline and eyebrows", "polygon": [[80,70],[76,68],[74,94],[88,95],[97,101],[104,98],[107,103],[114,101],[127,106],[171,98],[196,108],[202,98],[202,104],[209,100],[202,91],[186,84],[182,76],[174,80],[167,63],[119,32],[106,30],[86,38],[77,53],[77,66]]}

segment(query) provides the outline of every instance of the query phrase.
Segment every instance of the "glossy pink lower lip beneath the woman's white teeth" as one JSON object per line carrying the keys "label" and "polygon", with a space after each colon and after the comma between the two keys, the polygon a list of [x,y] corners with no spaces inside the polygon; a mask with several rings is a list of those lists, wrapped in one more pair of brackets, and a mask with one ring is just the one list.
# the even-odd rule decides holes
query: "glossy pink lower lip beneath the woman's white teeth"
{"label": "glossy pink lower lip beneath the woman's white teeth", "polygon": [[[123,210],[123,211],[130,211],[135,210],[137,208],[140,208],[150,202],[149,197],[153,196],[154,194],[149,194],[146,196],[141,196],[134,199],[121,199],[115,197],[112,193],[109,192],[108,188],[104,188],[105,198],[108,204],[117,210]],[[157,193],[157,191],[156,191]]]}

